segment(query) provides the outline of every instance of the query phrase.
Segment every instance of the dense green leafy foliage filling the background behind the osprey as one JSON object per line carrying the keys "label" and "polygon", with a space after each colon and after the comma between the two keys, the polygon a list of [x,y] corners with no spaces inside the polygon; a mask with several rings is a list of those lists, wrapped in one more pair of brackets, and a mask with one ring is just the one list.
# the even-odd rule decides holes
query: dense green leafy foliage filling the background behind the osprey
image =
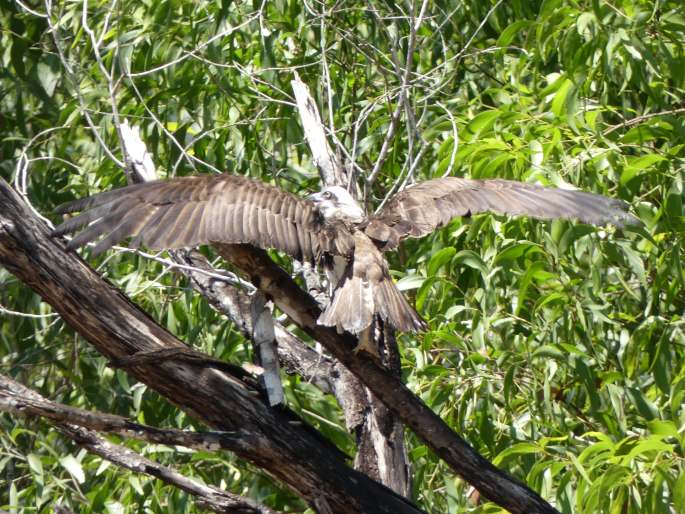
{"label": "dense green leafy foliage filling the background behind the osprey", "polygon": [[[1,0],[0,174],[27,184],[51,218],[62,201],[122,185],[94,136],[121,158],[113,95],[162,174],[219,169],[315,189],[290,98],[295,69],[370,172],[402,84],[393,52],[404,66],[404,17],[418,16],[421,4],[329,2],[335,11],[323,21],[312,5],[124,0],[110,13],[110,4],[90,2],[84,26],[83,4],[61,3],[50,13],[56,44],[46,18]],[[437,1],[422,16],[407,88],[415,129],[403,113],[370,207],[409,173],[449,172],[572,184],[630,202],[644,225],[477,216],[408,242],[390,256],[392,268],[431,330],[400,337],[406,381],[564,513],[682,512],[681,2]],[[113,91],[105,73],[117,81]],[[129,253],[91,262],[189,344],[250,359],[237,331],[160,264]],[[1,269],[0,284],[0,305],[32,315],[0,314],[5,373],[73,406],[195,426],[107,368]],[[287,385],[290,406],[352,452],[333,400],[296,377]],[[108,466],[42,422],[1,421],[2,509],[51,512],[61,501],[79,512],[197,512],[185,495]],[[423,508],[499,512],[470,502],[467,484],[408,437]],[[275,508],[303,509],[231,455],[126,444]]]}

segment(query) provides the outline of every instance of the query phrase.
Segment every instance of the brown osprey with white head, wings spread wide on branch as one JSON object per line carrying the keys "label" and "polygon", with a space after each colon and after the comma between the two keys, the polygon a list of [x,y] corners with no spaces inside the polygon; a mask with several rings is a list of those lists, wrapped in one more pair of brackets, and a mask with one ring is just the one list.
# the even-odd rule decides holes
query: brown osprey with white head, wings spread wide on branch
{"label": "brown osprey with white head, wings spread wide on branch", "polygon": [[[620,200],[510,180],[447,177],[419,182],[367,216],[342,187],[301,198],[235,175],[145,182],[66,203],[58,213],[83,211],[53,234],[76,232],[74,249],[105,236],[94,254],[133,237],[132,247],[179,249],[201,244],[249,243],[275,248],[299,261],[340,268],[334,293],[318,322],[353,333],[380,316],[402,331],[425,322],[393,283],[383,252],[424,236],[457,216],[481,212],[541,219],[578,219],[622,226],[635,221]],[[343,266],[333,266],[333,263]]]}

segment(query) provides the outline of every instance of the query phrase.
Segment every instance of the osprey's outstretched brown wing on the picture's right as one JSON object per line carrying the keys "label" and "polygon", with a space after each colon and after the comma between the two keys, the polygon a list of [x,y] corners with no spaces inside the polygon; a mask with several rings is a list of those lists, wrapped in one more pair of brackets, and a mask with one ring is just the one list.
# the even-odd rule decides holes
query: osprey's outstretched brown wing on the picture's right
{"label": "osprey's outstretched brown wing on the picture's right", "polygon": [[452,218],[480,212],[578,219],[593,225],[635,223],[626,211],[621,200],[582,191],[512,180],[446,177],[419,182],[398,193],[369,220],[365,231],[389,250],[406,237],[424,236]]}

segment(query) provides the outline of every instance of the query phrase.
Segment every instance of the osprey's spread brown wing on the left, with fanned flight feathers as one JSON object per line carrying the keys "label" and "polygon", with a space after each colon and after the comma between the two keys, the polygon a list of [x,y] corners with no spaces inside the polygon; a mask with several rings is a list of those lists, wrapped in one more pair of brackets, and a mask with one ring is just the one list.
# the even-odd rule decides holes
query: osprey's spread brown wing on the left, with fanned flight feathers
{"label": "osprey's spread brown wing on the left, with fanned flight feathers", "polygon": [[349,232],[324,224],[312,202],[236,175],[202,175],[145,182],[66,203],[58,213],[84,211],[54,235],[86,227],[68,244],[106,236],[93,253],[133,237],[137,248],[187,248],[211,242],[276,248],[299,260],[321,252],[351,253]]}

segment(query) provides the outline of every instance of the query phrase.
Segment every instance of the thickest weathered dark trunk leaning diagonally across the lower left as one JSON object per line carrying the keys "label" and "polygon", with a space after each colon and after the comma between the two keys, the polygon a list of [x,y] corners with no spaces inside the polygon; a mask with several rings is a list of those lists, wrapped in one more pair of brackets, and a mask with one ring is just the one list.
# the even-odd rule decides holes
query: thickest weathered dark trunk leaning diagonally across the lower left
{"label": "thickest weathered dark trunk leaning diagonally across the lower left", "polygon": [[[172,334],[67,253],[0,179],[0,264],[50,303],[100,353],[186,348]],[[183,360],[128,368],[183,410],[219,430],[252,434],[236,454],[289,486],[314,508],[335,513],[418,513],[409,501],[346,464],[347,456],[286,409],[270,409],[260,391],[228,370]]]}

